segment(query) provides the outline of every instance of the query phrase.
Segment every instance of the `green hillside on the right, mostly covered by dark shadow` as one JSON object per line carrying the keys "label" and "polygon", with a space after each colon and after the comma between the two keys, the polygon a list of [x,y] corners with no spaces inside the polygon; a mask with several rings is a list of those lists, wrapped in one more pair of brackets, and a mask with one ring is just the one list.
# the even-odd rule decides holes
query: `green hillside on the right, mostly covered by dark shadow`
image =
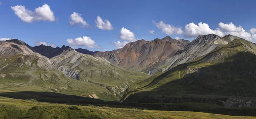
{"label": "green hillside on the right, mostly covered by dark shadow", "polygon": [[124,102],[205,102],[256,105],[256,44],[234,39],[127,93]]}

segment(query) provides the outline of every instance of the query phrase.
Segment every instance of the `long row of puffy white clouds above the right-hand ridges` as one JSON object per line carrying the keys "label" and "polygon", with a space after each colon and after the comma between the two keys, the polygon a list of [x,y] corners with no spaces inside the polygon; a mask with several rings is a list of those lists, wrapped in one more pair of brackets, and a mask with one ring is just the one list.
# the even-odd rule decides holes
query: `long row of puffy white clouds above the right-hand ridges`
{"label": "long row of puffy white clouds above the right-hand ridges", "polygon": [[256,42],[256,28],[251,28],[249,30],[249,33],[244,30],[242,26],[236,26],[232,22],[220,22],[218,24],[218,28],[215,29],[209,28],[209,25],[207,23],[199,22],[198,25],[196,25],[191,22],[185,25],[184,30],[182,30],[181,28],[177,28],[173,25],[165,24],[162,21],[160,21],[159,23],[153,21],[153,23],[157,26],[157,28],[162,29],[163,33],[166,33],[168,35],[183,34],[185,38],[194,38],[198,35],[207,35],[211,33],[214,33],[221,37],[227,34],[231,34],[249,41]]}

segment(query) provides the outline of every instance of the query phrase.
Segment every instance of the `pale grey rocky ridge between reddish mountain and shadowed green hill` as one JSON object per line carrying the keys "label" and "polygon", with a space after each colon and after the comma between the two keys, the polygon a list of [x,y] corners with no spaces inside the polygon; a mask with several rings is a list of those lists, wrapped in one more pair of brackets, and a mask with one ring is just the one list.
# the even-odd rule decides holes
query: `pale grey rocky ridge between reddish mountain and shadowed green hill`
{"label": "pale grey rocky ridge between reddish mountain and shadowed green hill", "polygon": [[228,44],[236,38],[239,37],[227,35],[221,38],[215,34],[199,35],[191,43],[178,50],[173,56],[170,56],[163,61],[154,64],[153,66],[145,68],[142,71],[150,75],[154,75],[157,72],[165,72],[179,64],[183,64],[202,55],[206,55],[216,47]]}

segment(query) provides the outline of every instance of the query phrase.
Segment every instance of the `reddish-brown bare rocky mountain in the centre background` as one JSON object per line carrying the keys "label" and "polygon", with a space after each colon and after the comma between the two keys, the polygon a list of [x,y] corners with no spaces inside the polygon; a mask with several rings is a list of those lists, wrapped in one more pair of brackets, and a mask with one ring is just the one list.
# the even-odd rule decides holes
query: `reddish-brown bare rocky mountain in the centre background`
{"label": "reddish-brown bare rocky mountain in the centre background", "polygon": [[88,52],[77,49],[80,53],[103,57],[114,65],[129,70],[141,70],[152,66],[166,57],[171,57],[189,41],[175,40],[169,36],[163,39],[154,39],[151,42],[138,40],[125,45],[125,47],[107,52]]}

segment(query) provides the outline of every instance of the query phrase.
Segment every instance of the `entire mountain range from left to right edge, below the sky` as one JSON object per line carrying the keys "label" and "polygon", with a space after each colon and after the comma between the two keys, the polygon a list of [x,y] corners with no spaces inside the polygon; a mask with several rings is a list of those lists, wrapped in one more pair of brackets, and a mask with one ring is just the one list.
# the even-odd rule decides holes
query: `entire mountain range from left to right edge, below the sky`
{"label": "entire mountain range from left to right edge, below the sky", "polygon": [[256,105],[256,44],[237,36],[169,36],[112,51],[0,41],[0,91],[50,91],[121,102]]}

